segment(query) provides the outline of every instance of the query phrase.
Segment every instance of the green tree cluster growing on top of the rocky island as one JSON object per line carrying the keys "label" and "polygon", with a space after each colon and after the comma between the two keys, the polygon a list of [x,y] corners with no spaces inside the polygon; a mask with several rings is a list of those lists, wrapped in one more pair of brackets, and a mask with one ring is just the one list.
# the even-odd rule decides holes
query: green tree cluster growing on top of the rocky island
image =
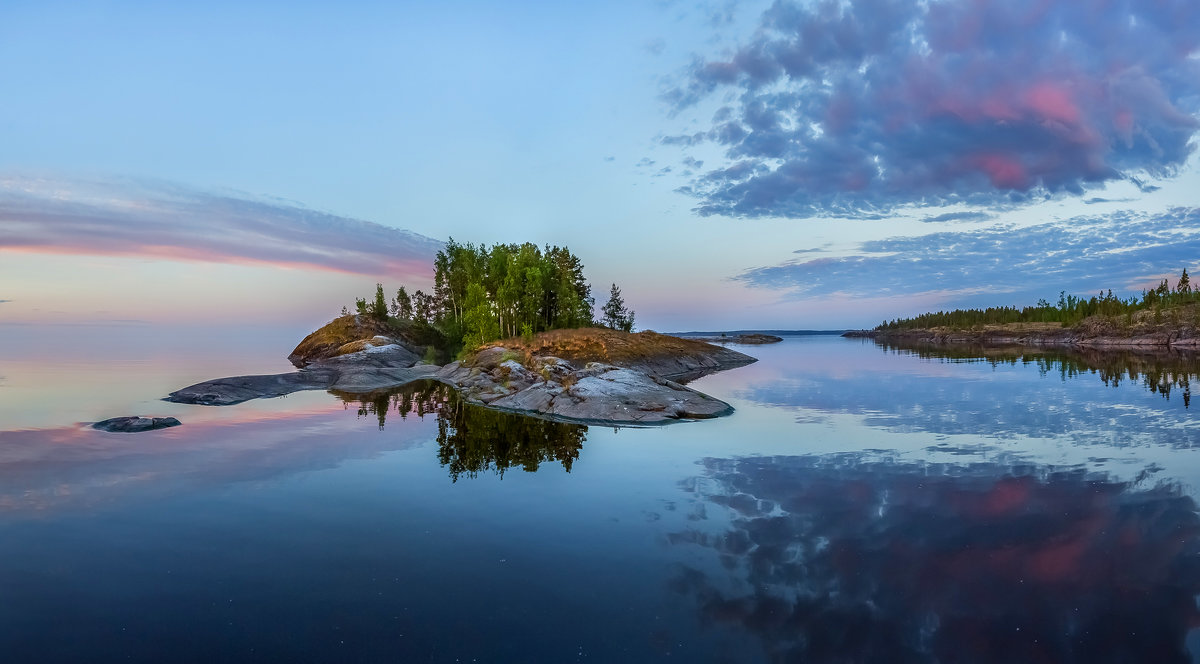
{"label": "green tree cluster growing on top of the rocky island", "polygon": [[[402,327],[451,354],[553,329],[604,324],[632,331],[634,312],[625,307],[616,283],[600,321],[593,319],[594,304],[583,263],[566,247],[487,246],[451,238],[434,258],[432,293],[409,293],[401,286],[389,300],[377,283],[374,297],[359,298],[354,312]],[[343,307],[342,313],[350,311]]]}

